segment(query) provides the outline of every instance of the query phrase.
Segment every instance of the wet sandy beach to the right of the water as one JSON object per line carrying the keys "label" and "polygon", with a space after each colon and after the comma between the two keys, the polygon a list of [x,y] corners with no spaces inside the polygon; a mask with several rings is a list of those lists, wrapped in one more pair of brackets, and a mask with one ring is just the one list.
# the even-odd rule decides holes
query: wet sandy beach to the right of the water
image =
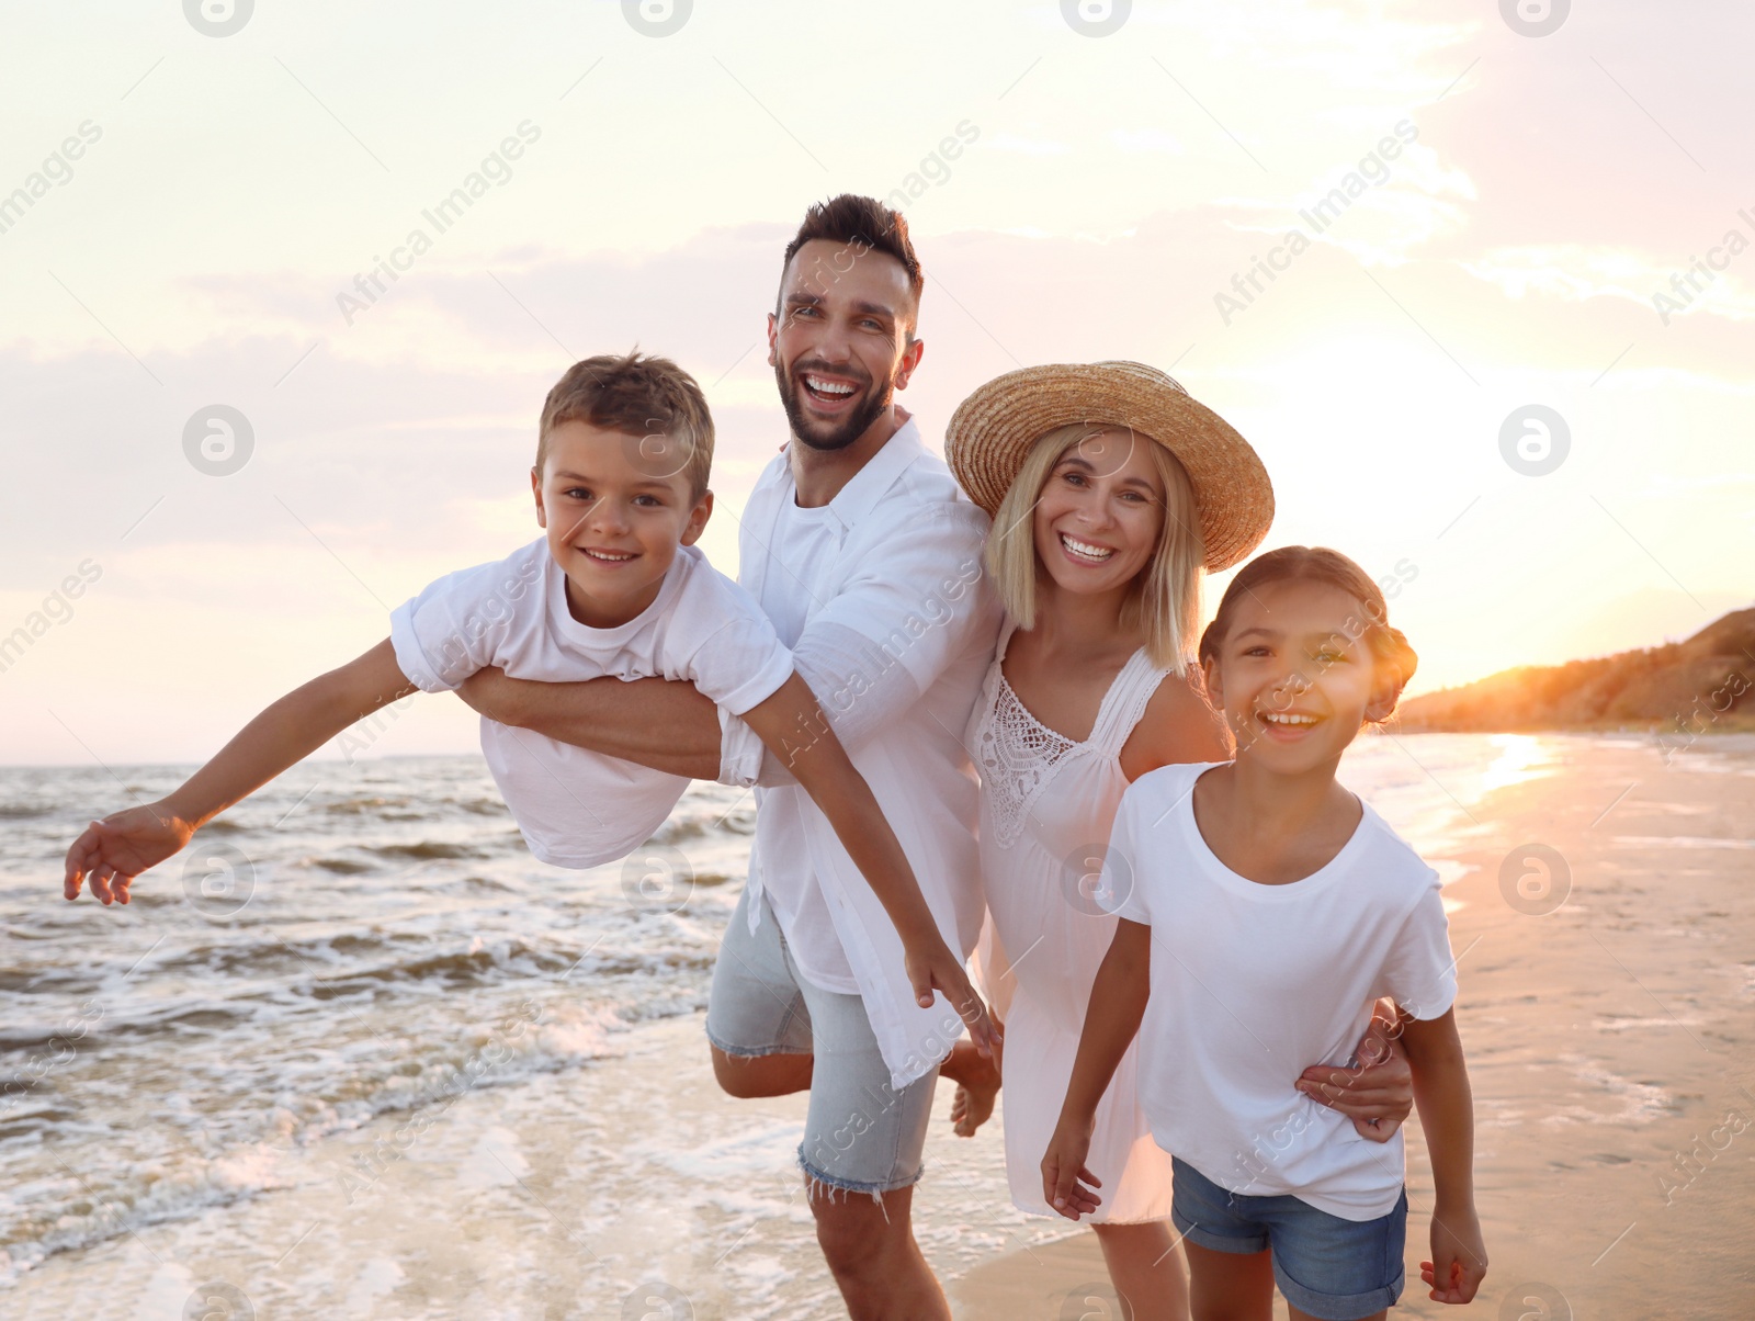
{"label": "wet sandy beach to the right of the water", "polygon": [[[1544,740],[1548,741],[1548,740]],[[1555,740],[1558,773],[1490,792],[1444,894],[1476,1103],[1490,1268],[1460,1312],[1427,1300],[1432,1180],[1409,1121],[1408,1275],[1392,1316],[1746,1321],[1755,1316],[1755,738]],[[1508,854],[1569,871],[1501,887]],[[1558,873],[1553,873],[1558,875]],[[1522,908],[1522,910],[1520,910]],[[1548,912],[1551,908],[1551,912]],[[1065,1309],[1102,1281],[1090,1235],[951,1286],[967,1321]],[[1279,1303],[1279,1316],[1285,1316]]]}

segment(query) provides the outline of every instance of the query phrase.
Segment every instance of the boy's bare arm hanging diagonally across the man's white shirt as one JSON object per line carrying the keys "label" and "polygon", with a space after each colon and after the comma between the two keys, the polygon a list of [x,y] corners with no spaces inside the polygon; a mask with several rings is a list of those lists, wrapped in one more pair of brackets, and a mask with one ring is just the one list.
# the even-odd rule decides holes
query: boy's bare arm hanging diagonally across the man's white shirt
{"label": "boy's bare arm hanging diagonally across the man's white shirt", "polygon": [[999,1031],[986,1005],[969,982],[963,961],[939,935],[939,924],[920,892],[902,843],[885,820],[865,776],[828,727],[811,687],[795,673],[767,701],[744,711],[742,720],[804,785],[811,801],[835,827],[853,864],[865,875],[865,884],[902,936],[907,980],[914,985],[920,1007],[932,1005],[934,989],[942,991],[969,1024],[976,1049],[985,1056],[992,1054]]}

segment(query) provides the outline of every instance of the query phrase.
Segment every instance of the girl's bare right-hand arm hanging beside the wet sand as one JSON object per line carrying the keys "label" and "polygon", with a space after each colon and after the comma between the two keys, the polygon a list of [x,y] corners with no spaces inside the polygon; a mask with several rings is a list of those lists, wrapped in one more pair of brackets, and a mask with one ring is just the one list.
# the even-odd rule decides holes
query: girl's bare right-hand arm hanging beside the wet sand
{"label": "girl's bare right-hand arm hanging beside the wet sand", "polygon": [[1486,1244],[1474,1214],[1474,1098],[1462,1061],[1455,1010],[1402,1019],[1402,1043],[1415,1072],[1415,1105],[1432,1156],[1432,1260],[1420,1263],[1429,1295],[1441,1303],[1474,1298],[1486,1275]]}

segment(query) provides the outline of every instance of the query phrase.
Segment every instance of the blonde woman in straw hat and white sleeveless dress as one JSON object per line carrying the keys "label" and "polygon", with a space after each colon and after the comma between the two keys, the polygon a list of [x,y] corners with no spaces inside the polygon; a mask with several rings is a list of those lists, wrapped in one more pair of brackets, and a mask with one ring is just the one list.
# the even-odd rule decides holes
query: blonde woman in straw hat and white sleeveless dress
{"label": "blonde woman in straw hat and white sleeveless dress", "polygon": [[[1102,841],[1128,780],[1228,755],[1186,653],[1202,566],[1260,541],[1272,488],[1236,430],[1139,364],[1000,376],[956,409],[946,457],[993,515],[986,560],[1009,615],[965,741],[981,773],[986,991],[1007,1021],[1006,1165],[1013,1202],[1048,1216],[1037,1159],[1116,926],[1092,896]],[[993,1105],[981,1066],[962,1047],[946,1068],[965,1135]],[[1374,1086],[1343,1077],[1360,1084],[1346,1112],[1390,1121],[1372,1133],[1386,1138],[1411,1108],[1406,1068]],[[1171,1159],[1141,1115],[1132,1054],[1095,1110],[1090,1165],[1111,1189],[1093,1228],[1127,1314],[1185,1317]]]}

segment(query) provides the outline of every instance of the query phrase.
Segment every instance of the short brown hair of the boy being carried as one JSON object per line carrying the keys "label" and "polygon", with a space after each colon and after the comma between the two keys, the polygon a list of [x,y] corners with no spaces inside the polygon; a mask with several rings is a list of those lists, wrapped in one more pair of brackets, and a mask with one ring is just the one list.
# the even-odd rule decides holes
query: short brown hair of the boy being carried
{"label": "short brown hair of the boy being carried", "polygon": [[[542,402],[537,429],[537,473],[548,464],[549,432],[563,422],[584,422],[639,437],[641,462],[667,476],[683,473],[693,499],[707,494],[713,471],[713,413],[695,378],[670,358],[639,350],[600,353],[572,364]],[[665,457],[669,446],[681,455]]]}

